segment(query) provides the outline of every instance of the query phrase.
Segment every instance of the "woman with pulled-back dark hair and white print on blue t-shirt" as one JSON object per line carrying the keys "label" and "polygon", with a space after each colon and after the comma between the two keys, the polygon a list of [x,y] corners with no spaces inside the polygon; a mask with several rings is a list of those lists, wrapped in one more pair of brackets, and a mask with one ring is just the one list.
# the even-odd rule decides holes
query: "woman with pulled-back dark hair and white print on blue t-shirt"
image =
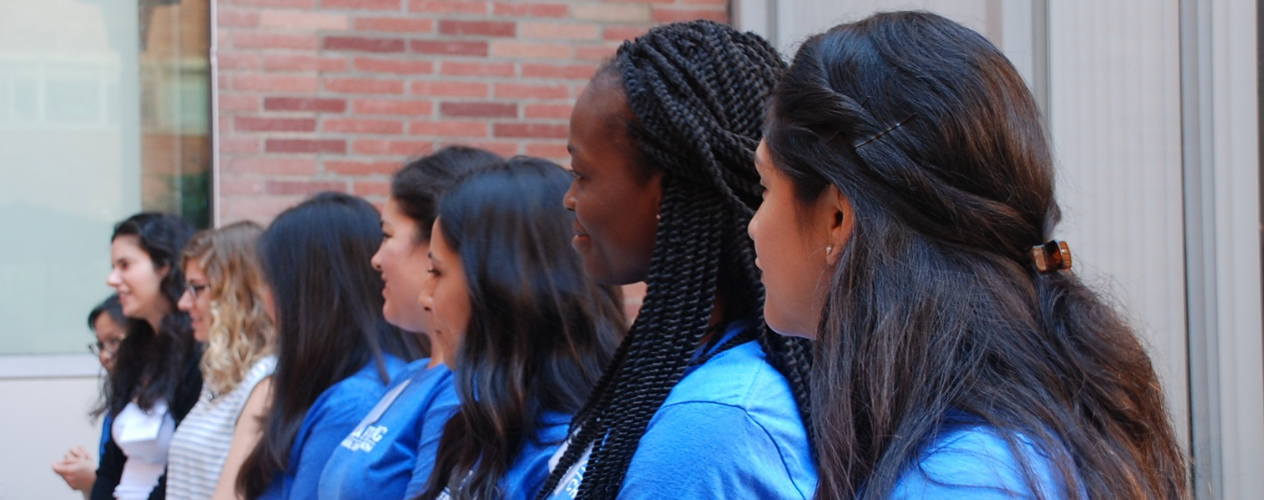
{"label": "woman with pulled-back dark hair and white print on blue t-shirt", "polygon": [[320,500],[413,497],[430,479],[444,424],[456,410],[451,352],[430,342],[430,313],[417,297],[430,274],[430,231],[440,196],[461,176],[504,160],[468,146],[446,146],[410,162],[391,179],[382,208],[382,246],[373,268],[386,283],[383,314],[426,340],[430,356],[408,364],[382,400],[348,434],[320,477]]}

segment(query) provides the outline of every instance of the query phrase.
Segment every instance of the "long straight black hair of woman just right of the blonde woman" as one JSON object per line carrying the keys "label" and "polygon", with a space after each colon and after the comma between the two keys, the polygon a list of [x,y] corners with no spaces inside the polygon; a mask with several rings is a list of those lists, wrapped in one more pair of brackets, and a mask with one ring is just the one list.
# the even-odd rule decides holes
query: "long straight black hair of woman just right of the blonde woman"
{"label": "long straight black hair of woman just right of the blonde woman", "polygon": [[343,193],[286,210],[259,237],[277,319],[277,370],[263,436],[236,477],[245,497],[258,497],[288,470],[303,418],[325,389],[368,362],[389,383],[383,356],[408,359],[403,337],[382,316],[382,277],[369,265],[380,244],[378,211]]}

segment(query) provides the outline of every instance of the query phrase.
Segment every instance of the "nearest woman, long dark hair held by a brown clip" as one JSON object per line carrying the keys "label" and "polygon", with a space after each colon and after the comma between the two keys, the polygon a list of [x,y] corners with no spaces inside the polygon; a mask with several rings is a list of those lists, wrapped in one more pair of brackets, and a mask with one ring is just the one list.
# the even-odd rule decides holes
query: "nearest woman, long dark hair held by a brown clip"
{"label": "nearest woman, long dark hair held by a brown clip", "polygon": [[751,222],[780,333],[815,341],[818,499],[1182,499],[1134,330],[1071,270],[1031,93],[977,33],[889,13],[779,83]]}

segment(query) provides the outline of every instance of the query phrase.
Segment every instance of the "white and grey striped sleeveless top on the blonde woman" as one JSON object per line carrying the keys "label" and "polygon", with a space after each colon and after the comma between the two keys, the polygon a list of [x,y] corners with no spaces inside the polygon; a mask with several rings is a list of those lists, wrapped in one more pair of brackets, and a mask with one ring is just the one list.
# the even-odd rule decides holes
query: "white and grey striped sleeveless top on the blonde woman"
{"label": "white and grey striped sleeveless top on the blonde woman", "polygon": [[276,369],[277,356],[264,356],[233,391],[216,396],[210,386],[202,388],[197,405],[179,423],[171,441],[168,500],[205,500],[215,494],[241,408],[255,385]]}

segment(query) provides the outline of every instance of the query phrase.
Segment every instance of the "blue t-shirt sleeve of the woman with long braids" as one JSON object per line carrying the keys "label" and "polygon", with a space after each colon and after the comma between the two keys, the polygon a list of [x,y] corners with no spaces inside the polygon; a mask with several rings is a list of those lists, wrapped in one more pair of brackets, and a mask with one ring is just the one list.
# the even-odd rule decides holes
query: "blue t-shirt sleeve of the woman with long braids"
{"label": "blue t-shirt sleeve of the woman with long braids", "polygon": [[709,402],[659,410],[628,466],[619,500],[806,500],[770,433],[744,409]]}

